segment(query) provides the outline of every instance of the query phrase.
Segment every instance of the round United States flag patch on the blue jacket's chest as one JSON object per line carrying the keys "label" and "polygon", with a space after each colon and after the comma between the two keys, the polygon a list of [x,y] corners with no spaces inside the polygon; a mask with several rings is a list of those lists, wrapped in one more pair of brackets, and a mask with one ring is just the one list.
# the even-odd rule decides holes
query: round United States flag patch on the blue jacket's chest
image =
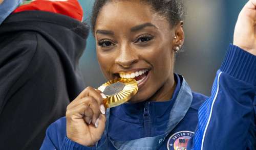
{"label": "round United States flag patch on the blue jacket's chest", "polygon": [[187,143],[189,139],[194,135],[191,131],[180,131],[168,139],[167,149],[168,150],[187,150]]}

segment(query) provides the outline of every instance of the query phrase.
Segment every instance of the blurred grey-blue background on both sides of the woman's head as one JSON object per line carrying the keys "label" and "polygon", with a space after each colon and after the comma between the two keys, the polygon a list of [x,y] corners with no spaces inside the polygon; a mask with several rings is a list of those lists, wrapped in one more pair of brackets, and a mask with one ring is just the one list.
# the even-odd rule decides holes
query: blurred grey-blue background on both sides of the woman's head
{"label": "blurred grey-blue background on both sides of the woman's head", "polygon": [[[90,23],[94,0],[79,0],[84,20]],[[210,94],[216,71],[221,66],[238,14],[247,0],[186,0],[185,43],[176,57],[175,72],[182,74],[191,89]],[[86,86],[98,87],[105,82],[100,71],[95,40],[90,33],[87,48],[80,60]]]}

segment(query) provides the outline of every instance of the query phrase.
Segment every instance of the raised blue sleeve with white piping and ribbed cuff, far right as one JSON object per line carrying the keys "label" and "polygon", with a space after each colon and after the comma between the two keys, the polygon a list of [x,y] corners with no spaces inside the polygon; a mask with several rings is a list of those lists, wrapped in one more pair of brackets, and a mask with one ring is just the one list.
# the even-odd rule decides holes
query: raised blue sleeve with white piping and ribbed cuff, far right
{"label": "raised blue sleeve with white piping and ribbed cuff, far right", "polygon": [[187,149],[255,149],[256,56],[229,46]]}

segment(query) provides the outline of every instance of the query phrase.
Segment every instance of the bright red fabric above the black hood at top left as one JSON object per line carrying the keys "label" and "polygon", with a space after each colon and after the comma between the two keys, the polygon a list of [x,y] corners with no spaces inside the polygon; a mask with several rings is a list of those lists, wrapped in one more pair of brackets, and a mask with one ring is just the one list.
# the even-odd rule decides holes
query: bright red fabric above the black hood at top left
{"label": "bright red fabric above the black hood at top left", "polygon": [[39,10],[66,15],[82,21],[83,10],[77,0],[30,0],[25,1],[13,13]]}

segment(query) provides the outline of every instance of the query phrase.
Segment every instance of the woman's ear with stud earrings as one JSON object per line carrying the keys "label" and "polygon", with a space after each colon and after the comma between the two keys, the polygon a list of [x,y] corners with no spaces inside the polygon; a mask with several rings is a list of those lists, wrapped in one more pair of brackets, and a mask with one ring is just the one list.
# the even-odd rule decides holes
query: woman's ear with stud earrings
{"label": "woman's ear with stud earrings", "polygon": [[[181,48],[184,43],[184,31],[183,31],[183,21],[176,25],[174,30],[174,37],[173,37],[173,49],[177,50],[177,46]],[[177,50],[178,51],[178,50]]]}

